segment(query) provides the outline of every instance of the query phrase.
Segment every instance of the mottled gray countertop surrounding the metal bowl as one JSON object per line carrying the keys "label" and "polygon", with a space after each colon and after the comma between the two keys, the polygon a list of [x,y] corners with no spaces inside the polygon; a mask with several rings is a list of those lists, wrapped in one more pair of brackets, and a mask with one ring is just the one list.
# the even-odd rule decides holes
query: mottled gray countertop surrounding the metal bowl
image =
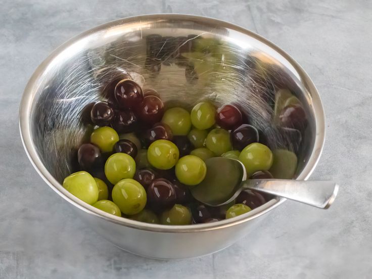
{"label": "mottled gray countertop surrounding the metal bowl", "polygon": [[[368,0],[2,0],[0,278],[370,278],[371,6]],[[241,25],[304,67],[327,116],[324,152],[311,178],[341,185],[329,210],[286,202],[235,245],[179,261],[121,251],[75,218],[23,151],[23,89],[37,65],[71,36],[149,13],[196,14]]]}

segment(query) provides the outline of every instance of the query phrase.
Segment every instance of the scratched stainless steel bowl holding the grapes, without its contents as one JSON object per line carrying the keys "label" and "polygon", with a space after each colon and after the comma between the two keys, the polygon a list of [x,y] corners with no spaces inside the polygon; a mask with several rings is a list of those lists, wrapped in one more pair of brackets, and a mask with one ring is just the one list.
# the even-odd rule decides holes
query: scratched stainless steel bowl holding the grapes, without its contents
{"label": "scratched stainless steel bowl holding the grapes, without its contents", "polygon": [[[192,62],[184,59],[190,53]],[[309,119],[298,150],[297,178],[307,179],[318,162],[325,129],[318,92],[288,54],[261,36],[223,21],[176,14],[137,16],[88,30],[61,45],[30,78],[20,106],[21,136],[45,182],[91,229],[126,251],[159,259],[213,253],[247,235],[285,199],[219,222],[165,226],[107,214],[67,192],[61,183],[73,168],[73,151],[88,132],[82,110],[101,100],[105,84],[124,72],[158,90],[168,106],[191,106],[202,99],[236,103],[276,146],[286,136],[270,128],[271,103],[275,91],[287,87]]]}

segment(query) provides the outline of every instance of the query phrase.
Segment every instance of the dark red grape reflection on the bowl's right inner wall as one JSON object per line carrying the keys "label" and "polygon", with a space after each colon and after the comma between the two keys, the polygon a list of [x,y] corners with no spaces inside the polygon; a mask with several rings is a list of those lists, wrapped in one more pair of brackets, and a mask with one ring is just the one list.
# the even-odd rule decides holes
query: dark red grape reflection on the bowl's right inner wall
{"label": "dark red grape reflection on the bowl's right inner wall", "polygon": [[299,105],[287,106],[279,115],[279,125],[282,127],[303,130],[306,124],[306,113]]}

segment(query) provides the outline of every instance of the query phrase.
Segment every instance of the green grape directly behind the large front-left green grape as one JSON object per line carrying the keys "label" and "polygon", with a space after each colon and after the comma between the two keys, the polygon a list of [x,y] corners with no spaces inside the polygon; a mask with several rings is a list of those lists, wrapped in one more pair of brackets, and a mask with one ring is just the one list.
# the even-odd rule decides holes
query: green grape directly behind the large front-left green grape
{"label": "green grape directly behind the large front-left green grape", "polygon": [[115,153],[106,161],[105,175],[112,184],[124,178],[133,178],[134,173],[135,162],[128,154]]}

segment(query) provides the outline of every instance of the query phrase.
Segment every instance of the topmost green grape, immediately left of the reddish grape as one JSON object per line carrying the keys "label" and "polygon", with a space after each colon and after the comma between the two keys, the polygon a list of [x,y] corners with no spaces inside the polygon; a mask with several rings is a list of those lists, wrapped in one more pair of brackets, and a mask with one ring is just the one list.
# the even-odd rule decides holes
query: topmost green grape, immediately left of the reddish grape
{"label": "topmost green grape, immediately left of the reddish grape", "polygon": [[216,116],[216,108],[209,102],[197,104],[191,111],[191,123],[199,130],[212,127]]}

